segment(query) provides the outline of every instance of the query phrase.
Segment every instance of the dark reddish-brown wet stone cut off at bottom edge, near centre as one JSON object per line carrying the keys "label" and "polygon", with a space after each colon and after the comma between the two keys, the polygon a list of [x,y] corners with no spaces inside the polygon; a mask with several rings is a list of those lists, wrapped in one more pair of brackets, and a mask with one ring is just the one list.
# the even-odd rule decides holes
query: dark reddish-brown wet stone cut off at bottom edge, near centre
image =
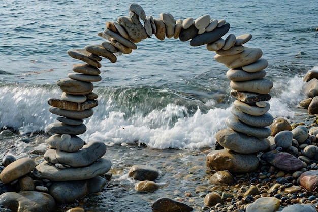
{"label": "dark reddish-brown wet stone cut off at bottom edge, near centre", "polygon": [[157,199],[152,203],[151,208],[153,212],[190,212],[193,210],[189,205],[170,198]]}

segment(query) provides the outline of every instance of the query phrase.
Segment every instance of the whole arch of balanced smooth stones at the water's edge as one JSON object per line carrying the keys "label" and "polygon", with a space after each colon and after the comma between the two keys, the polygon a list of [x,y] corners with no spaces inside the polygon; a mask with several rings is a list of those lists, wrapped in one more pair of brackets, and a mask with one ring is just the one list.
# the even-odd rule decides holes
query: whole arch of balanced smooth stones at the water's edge
{"label": "whole arch of balanced smooth stones at the water's edge", "polygon": [[[56,118],[58,122],[47,126],[47,131],[55,134],[48,139],[48,143],[54,148],[66,152],[64,157],[68,160],[68,153],[73,154],[83,149],[84,142],[77,135],[86,131],[83,119],[93,115],[92,108],[98,105],[98,95],[93,93],[92,82],[101,80],[99,68],[102,65],[100,61],[104,57],[115,63],[118,55],[130,54],[137,49],[137,43],[154,34],[160,40],[173,37],[184,42],[190,40],[190,45],[194,47],[206,45],[207,50],[216,52],[214,59],[217,62],[230,68],[227,78],[231,80],[231,96],[237,100],[231,109],[233,115],[226,118],[230,129],[221,130],[216,134],[217,142],[227,150],[216,150],[213,154],[209,154],[207,166],[214,170],[223,170],[222,164],[225,163],[224,161],[215,162],[215,160],[220,160],[217,159],[217,155],[222,155],[222,159],[225,160],[229,158],[240,160],[244,154],[242,157],[247,157],[247,161],[250,162],[249,165],[246,165],[247,168],[244,166],[245,169],[241,169],[242,164],[239,164],[234,165],[230,171],[250,172],[256,169],[258,158],[255,153],[269,147],[267,137],[271,132],[267,126],[273,122],[273,117],[268,113],[270,106],[266,101],[271,98],[269,92],[273,83],[264,78],[266,75],[264,69],[268,66],[268,62],[261,58],[261,49],[243,45],[252,36],[244,34],[236,37],[234,34],[230,34],[223,39],[222,36],[228,33],[230,24],[224,19],[211,20],[209,15],[203,15],[195,20],[192,18],[175,20],[171,14],[161,13],[160,18],[153,18],[153,16],[146,16],[145,11],[138,4],[131,4],[129,12],[129,16],[118,17],[117,22],[106,22],[105,31],[98,34],[105,38],[106,42],[102,42],[101,45],[87,45],[84,49],[67,51],[72,58],[85,63],[73,65],[74,73],[70,73],[68,78],[56,82],[62,90],[62,94],[60,98],[48,100],[51,106],[49,111],[58,115]],[[235,142],[232,142],[233,140]],[[101,147],[103,143],[100,142],[85,147],[85,151],[89,152],[97,148],[93,149],[91,146],[103,149]],[[50,150],[50,152],[52,151]],[[45,160],[54,164],[66,163],[66,160],[61,161],[62,158],[57,159],[52,155],[54,154],[47,153]],[[94,174],[106,173],[110,169],[109,161],[104,163],[106,164],[104,167],[100,167],[101,163],[98,161],[101,160],[101,155],[103,152],[99,153],[97,158],[89,158],[90,162],[95,161],[99,170]],[[45,169],[41,168],[44,165],[37,166],[35,171],[37,177],[48,177]],[[71,166],[76,166],[76,163]],[[82,163],[80,166],[86,165]],[[94,169],[89,166],[91,165],[87,165],[88,169]],[[62,169],[57,169],[55,172],[59,173],[58,177],[61,177]],[[73,175],[76,176],[76,174]],[[92,178],[94,175],[88,177]],[[72,180],[79,179],[72,178]]]}

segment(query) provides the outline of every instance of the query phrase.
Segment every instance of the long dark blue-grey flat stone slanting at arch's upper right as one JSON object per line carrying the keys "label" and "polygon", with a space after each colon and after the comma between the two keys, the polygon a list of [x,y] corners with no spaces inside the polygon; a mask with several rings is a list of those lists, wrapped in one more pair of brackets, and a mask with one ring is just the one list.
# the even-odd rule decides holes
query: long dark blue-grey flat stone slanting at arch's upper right
{"label": "long dark blue-grey flat stone slanting at arch's upper right", "polygon": [[191,46],[201,46],[204,44],[217,41],[224,36],[230,29],[230,24],[226,23],[222,27],[216,28],[211,32],[205,32],[201,35],[197,35],[190,41]]}

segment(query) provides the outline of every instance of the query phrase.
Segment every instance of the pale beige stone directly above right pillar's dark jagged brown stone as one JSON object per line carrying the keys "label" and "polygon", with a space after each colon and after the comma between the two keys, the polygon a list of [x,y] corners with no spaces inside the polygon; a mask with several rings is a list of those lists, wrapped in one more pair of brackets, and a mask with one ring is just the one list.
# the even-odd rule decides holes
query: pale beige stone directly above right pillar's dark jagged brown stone
{"label": "pale beige stone directly above right pillar's dark jagged brown stone", "polygon": [[231,81],[230,86],[233,90],[239,92],[268,94],[273,87],[273,82],[263,78],[249,81]]}

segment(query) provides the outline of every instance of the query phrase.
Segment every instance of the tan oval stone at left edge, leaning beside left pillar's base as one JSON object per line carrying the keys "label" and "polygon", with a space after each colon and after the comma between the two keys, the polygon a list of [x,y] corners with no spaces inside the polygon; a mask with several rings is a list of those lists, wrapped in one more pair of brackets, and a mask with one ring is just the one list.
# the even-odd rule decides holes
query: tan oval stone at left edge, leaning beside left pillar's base
{"label": "tan oval stone at left edge, leaning beside left pillar's base", "polygon": [[31,158],[20,158],[13,161],[0,172],[0,180],[7,184],[13,180],[30,173],[36,166],[36,163]]}

